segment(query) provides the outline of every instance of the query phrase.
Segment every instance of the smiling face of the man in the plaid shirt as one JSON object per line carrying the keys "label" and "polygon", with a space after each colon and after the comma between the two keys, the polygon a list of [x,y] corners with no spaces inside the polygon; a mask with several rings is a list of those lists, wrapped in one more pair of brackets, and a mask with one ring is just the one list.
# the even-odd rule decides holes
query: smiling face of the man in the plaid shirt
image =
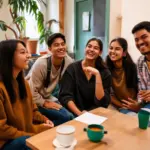
{"label": "smiling face of the man in the plaid shirt", "polygon": [[141,54],[146,55],[150,53],[150,32],[141,29],[134,33],[135,44]]}

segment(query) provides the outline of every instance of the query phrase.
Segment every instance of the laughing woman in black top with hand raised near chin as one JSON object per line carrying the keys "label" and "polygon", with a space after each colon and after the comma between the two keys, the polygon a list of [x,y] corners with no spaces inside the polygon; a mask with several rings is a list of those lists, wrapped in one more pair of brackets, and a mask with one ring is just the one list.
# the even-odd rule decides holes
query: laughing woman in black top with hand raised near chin
{"label": "laughing woman in black top with hand raised near chin", "polygon": [[68,66],[61,80],[59,100],[76,116],[110,103],[111,74],[101,58],[102,41],[90,39],[85,58]]}

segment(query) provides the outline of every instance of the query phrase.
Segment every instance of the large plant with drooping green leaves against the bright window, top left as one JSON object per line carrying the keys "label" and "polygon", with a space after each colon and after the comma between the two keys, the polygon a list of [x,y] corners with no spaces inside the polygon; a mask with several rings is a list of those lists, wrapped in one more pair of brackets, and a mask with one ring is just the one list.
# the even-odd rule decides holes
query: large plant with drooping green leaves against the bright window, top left
{"label": "large plant with drooping green leaves against the bright window, top left", "polygon": [[[38,1],[46,6],[43,0]],[[10,6],[9,11],[12,17],[13,24],[16,27],[14,29],[13,27],[7,25],[3,20],[0,20],[0,29],[2,31],[6,31],[7,29],[9,29],[14,33],[16,39],[20,38],[26,42],[28,38],[25,38],[24,36],[26,29],[26,19],[23,16],[24,12],[32,14],[37,21],[38,32],[41,33],[43,31],[44,16],[39,10],[35,0],[8,0],[8,5]]]}

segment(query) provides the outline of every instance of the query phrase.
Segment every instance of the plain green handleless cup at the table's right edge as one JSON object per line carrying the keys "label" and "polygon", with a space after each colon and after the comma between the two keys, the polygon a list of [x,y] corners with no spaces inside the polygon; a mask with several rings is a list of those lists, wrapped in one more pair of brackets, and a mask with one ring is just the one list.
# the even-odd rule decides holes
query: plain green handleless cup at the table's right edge
{"label": "plain green handleless cup at the table's right edge", "polygon": [[149,123],[150,112],[146,110],[140,110],[138,112],[139,128],[147,129]]}

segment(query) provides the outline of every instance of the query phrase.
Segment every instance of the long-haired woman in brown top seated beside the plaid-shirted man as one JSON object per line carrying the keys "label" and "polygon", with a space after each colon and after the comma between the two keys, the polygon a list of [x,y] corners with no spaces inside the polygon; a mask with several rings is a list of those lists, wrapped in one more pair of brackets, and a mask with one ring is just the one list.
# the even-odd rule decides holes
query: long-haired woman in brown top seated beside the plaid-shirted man
{"label": "long-haired woman in brown top seated beside the plaid-shirted man", "polygon": [[133,111],[139,110],[139,106],[129,107],[128,104],[137,100],[137,70],[124,38],[118,37],[110,42],[106,63],[112,73],[112,105],[122,113],[133,114]]}

